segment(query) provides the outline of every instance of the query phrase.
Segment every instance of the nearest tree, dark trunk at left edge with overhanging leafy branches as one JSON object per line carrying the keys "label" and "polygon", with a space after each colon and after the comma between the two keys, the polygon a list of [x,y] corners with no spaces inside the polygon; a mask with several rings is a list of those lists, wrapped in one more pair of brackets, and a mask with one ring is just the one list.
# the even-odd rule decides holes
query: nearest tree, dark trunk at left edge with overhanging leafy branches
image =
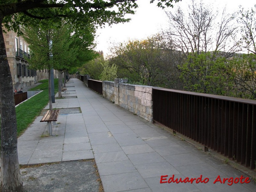
{"label": "nearest tree, dark trunk at left edge with overhanging leafy branches", "polygon": [[[153,3],[155,0],[150,0]],[[175,0],[178,2],[179,0]],[[172,6],[172,0],[158,1],[159,7]],[[114,8],[116,7],[117,11]],[[23,191],[17,152],[17,124],[12,93],[12,77],[6,56],[3,26],[21,34],[20,25],[28,18],[47,19],[56,23],[68,17],[72,24],[126,22],[124,16],[134,13],[137,7],[132,0],[5,0],[0,2],[0,99],[1,99],[1,185],[0,190]]]}

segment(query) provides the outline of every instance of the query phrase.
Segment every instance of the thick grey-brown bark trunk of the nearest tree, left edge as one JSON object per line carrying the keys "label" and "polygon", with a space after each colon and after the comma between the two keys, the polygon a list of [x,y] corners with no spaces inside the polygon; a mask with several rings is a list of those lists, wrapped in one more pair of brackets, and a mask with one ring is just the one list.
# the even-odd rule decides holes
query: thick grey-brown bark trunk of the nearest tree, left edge
{"label": "thick grey-brown bark trunk of the nearest tree, left edge", "polygon": [[12,87],[12,75],[8,64],[2,19],[0,19],[0,112],[1,112],[1,185],[2,192],[22,192],[17,149],[17,122]]}

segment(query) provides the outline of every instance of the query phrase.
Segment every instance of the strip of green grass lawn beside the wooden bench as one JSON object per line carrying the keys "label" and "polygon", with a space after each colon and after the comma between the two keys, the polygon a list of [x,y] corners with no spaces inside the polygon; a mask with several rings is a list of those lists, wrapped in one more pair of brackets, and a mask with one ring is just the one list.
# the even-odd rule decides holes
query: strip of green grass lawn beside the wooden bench
{"label": "strip of green grass lawn beside the wooden bench", "polygon": [[[31,90],[44,90],[29,100],[16,107],[17,136],[20,136],[49,102],[48,80],[40,81],[40,84]],[[58,79],[54,79],[54,92],[58,91]]]}

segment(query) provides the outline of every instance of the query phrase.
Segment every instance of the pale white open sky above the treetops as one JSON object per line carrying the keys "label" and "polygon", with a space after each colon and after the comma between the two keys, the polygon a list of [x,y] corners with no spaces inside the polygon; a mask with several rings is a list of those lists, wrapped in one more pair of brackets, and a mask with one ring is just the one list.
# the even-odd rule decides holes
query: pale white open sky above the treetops
{"label": "pale white open sky above the treetops", "polygon": [[[199,0],[194,1],[199,2]],[[191,4],[192,0],[182,0],[178,3],[173,3],[174,8],[166,8],[165,10],[157,7],[156,2],[153,4],[149,2],[150,0],[137,0],[139,7],[136,9],[134,15],[129,15],[129,18],[131,18],[130,22],[97,29],[95,38],[97,46],[95,50],[103,51],[104,57],[106,58],[110,54],[109,47],[112,44],[127,42],[129,39],[145,39],[148,36],[160,32],[162,29],[168,28],[169,24],[165,10],[175,11],[177,6],[187,10],[188,4]],[[239,10],[239,5],[247,10],[256,4],[255,0],[204,0],[203,2],[205,4],[208,2],[214,3],[214,6],[219,10],[226,6],[227,12],[229,13]]]}

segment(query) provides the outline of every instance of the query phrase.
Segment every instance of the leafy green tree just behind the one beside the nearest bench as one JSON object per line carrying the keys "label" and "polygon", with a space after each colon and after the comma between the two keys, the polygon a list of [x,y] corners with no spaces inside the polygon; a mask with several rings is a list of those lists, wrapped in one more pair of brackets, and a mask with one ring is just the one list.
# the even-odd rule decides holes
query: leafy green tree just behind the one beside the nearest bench
{"label": "leafy green tree just behind the one beside the nearest bench", "polygon": [[59,70],[59,97],[62,97],[62,73],[64,73],[64,87],[66,75],[72,68],[95,57],[94,27],[88,26],[78,31],[79,28],[72,28],[68,21],[61,24],[60,28],[54,30],[52,40],[52,59],[55,69]]}

